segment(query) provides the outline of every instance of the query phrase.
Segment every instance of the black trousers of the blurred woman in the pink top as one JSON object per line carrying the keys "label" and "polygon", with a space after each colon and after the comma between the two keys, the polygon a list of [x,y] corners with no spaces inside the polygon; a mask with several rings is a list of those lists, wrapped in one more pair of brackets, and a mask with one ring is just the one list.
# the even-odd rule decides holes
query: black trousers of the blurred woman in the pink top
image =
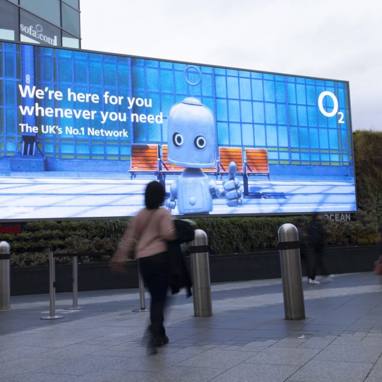
{"label": "black trousers of the blurred woman in the pink top", "polygon": [[150,332],[154,338],[164,337],[164,309],[169,287],[168,253],[138,259],[143,281],[150,292]]}

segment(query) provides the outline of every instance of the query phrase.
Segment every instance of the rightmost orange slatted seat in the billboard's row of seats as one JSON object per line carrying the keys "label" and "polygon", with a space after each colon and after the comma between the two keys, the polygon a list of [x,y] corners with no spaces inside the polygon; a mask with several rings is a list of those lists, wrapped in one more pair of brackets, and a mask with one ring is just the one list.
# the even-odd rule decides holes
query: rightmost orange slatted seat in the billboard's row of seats
{"label": "rightmost orange slatted seat in the billboard's row of seats", "polygon": [[267,149],[244,149],[244,195],[249,194],[248,177],[263,175],[270,179]]}

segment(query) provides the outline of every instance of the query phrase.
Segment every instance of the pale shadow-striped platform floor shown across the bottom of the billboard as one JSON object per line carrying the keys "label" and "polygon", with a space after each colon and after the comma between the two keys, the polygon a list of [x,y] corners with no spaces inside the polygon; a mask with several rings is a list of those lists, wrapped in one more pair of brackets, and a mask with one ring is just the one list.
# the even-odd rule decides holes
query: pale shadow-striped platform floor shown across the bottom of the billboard
{"label": "pale shadow-striped platform floor shown across the bottom of the billboard", "polygon": [[[212,179],[212,178],[211,178]],[[149,180],[129,178],[0,177],[1,219],[59,219],[131,216],[144,206]],[[174,179],[166,181],[167,197]],[[222,188],[221,180],[216,180]],[[355,211],[354,181],[264,181],[251,178],[242,204],[214,198],[209,214]],[[242,190],[243,191],[243,190]],[[178,204],[173,215],[179,215]],[[191,214],[191,213],[190,213]]]}

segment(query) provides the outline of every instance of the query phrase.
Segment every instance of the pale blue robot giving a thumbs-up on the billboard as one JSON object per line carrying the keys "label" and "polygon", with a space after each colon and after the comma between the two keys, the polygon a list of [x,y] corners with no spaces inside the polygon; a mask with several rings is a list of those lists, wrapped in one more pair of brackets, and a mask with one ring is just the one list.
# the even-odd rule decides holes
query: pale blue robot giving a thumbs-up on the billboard
{"label": "pale blue robot giving a thumbs-up on the billboard", "polygon": [[235,162],[229,165],[229,180],[223,182],[223,188],[216,187],[201,170],[216,166],[216,130],[211,110],[197,98],[187,97],[170,109],[167,160],[186,167],[170,186],[169,209],[174,209],[178,200],[181,214],[210,212],[212,196],[225,196],[231,207],[242,203]]}

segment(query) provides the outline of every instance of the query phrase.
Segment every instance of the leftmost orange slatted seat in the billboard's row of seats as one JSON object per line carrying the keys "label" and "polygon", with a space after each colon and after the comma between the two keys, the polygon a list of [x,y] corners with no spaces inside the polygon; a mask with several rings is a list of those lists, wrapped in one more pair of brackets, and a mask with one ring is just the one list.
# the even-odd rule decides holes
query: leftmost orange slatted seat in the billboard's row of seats
{"label": "leftmost orange slatted seat in the billboard's row of seats", "polygon": [[131,145],[131,179],[136,177],[136,174],[154,174],[157,177],[159,174],[159,146],[146,144]]}

